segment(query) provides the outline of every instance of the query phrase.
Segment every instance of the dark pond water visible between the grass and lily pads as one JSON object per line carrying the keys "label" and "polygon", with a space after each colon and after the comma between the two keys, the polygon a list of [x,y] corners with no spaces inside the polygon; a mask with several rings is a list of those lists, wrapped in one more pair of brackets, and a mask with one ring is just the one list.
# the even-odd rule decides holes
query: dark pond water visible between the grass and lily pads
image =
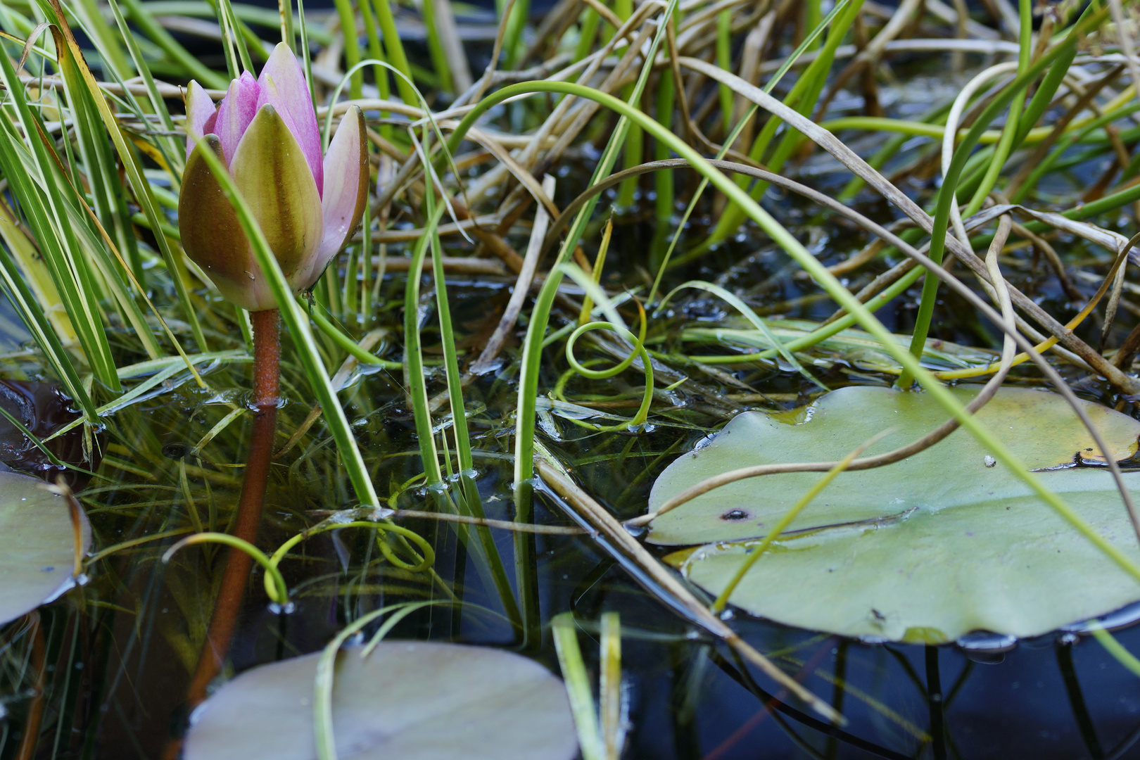
{"label": "dark pond water visible between the grass and lily pads", "polygon": [[[899,161],[921,145],[915,142]],[[825,189],[838,189],[842,180],[832,178],[830,171],[833,169],[821,162],[813,181]],[[1069,191],[1085,175],[1097,173],[1097,166],[1078,167],[1068,178],[1054,180],[1058,187],[1053,189]],[[691,179],[691,174],[678,172],[678,194],[683,182]],[[915,194],[921,195],[918,189]],[[560,205],[569,199],[570,194],[560,187]],[[791,198],[769,194],[766,203],[801,239],[811,242],[825,263],[841,261],[865,243],[861,234]],[[872,201],[864,206],[872,215],[890,218],[889,210]],[[694,220],[689,236],[699,238],[712,220],[715,209],[707,210]],[[619,221],[622,223],[614,234],[606,265],[614,273],[604,283],[640,287],[644,294],[645,252],[651,259],[660,255],[662,236],[651,220],[632,214]],[[587,239],[596,242],[597,236]],[[1074,259],[1088,261],[1104,255],[1064,238],[1060,244]],[[853,285],[890,263],[894,261],[879,262],[853,276]],[[795,276],[787,256],[752,232],[746,231],[670,276],[673,283],[685,278],[705,278],[735,288],[760,313],[774,311],[820,320],[831,312],[826,302],[813,297],[812,284]],[[1032,252],[1012,254],[1011,278],[1059,318],[1073,313]],[[378,326],[399,329],[404,281],[402,275],[385,280]],[[478,336],[486,337],[494,327],[510,295],[508,283],[455,277],[448,288],[453,317],[464,336],[461,349],[477,344]],[[424,292],[430,293],[426,285]],[[907,294],[880,310],[889,328],[899,333],[910,329],[914,295]],[[978,324],[954,299],[946,299],[943,310],[946,318],[934,336],[996,345],[992,326]],[[218,348],[241,348],[231,318],[218,316],[223,313],[229,312],[218,307],[207,324],[211,338]],[[573,317],[557,314],[559,320]],[[652,322],[650,340],[662,351],[700,352],[702,349],[682,345],[675,336],[685,326],[715,325],[728,317],[724,304],[689,296]],[[1130,319],[1125,317],[1119,329],[1131,327]],[[1089,329],[1091,335],[1099,327]],[[433,330],[429,326],[424,333],[429,361],[439,357],[439,337]],[[336,356],[329,346],[324,348],[329,357]],[[398,342],[385,351],[384,356],[399,359]],[[726,352],[724,348],[710,351]],[[516,344],[508,346],[502,377],[480,378],[466,395],[483,506],[489,517],[507,520],[513,516],[512,367],[518,353]],[[544,389],[553,387],[565,367],[556,352],[551,357]],[[832,387],[889,381],[842,357],[828,359],[815,370]],[[332,360],[328,363],[335,366]],[[24,369],[25,377],[35,376],[34,366]],[[697,376],[691,368],[685,371]],[[793,408],[807,402],[816,390],[795,373],[768,365],[736,365],[726,373],[720,377],[701,376],[701,383],[730,398],[741,394],[727,406],[710,404],[698,394],[678,393],[675,407],[654,409],[651,426],[636,435],[589,433],[565,417],[544,411],[540,435],[595,498],[620,517],[637,515],[645,508],[657,474],[723,425],[734,410]],[[185,534],[192,513],[209,526],[225,523],[239,485],[241,471],[235,463],[244,460],[247,435],[245,426],[237,423],[201,451],[194,451],[233,404],[243,403],[249,386],[245,363],[219,363],[205,376],[212,391],[195,390],[188,378],[174,376],[108,425],[100,473],[109,480],[92,482],[81,493],[95,529],[95,548],[153,540],[100,559],[83,589],[41,611],[47,706],[38,758],[160,758],[185,728],[186,686],[209,621],[210,598],[223,553],[188,549],[170,564],[163,564],[160,557]],[[300,369],[288,362],[287,353],[283,376],[286,404],[278,428],[287,435],[310,408],[300,401],[308,393]],[[754,392],[743,393],[726,379],[746,384]],[[442,387],[438,366],[431,383],[432,392]],[[1090,399],[1137,414],[1134,404],[1096,383],[1084,383],[1080,390]],[[605,382],[571,379],[567,385],[571,401],[595,406],[603,401],[610,404],[609,411],[618,415],[632,414],[640,393],[635,375]],[[15,409],[18,399],[13,398]],[[415,480],[422,468],[399,373],[358,375],[342,400],[381,497],[390,498],[391,506],[430,508],[430,495]],[[279,443],[284,442],[283,436]],[[315,514],[319,510],[355,505],[333,452],[318,423],[300,447],[277,460],[266,501],[263,546],[275,547],[311,525],[319,520]],[[571,524],[552,495],[539,492],[536,506],[538,522]],[[463,604],[413,613],[390,636],[523,649],[502,618],[502,605],[484,581],[484,569],[458,546],[455,531],[429,521],[405,524],[433,542],[435,570]],[[497,531],[495,540],[503,563],[512,567],[512,536]],[[600,615],[620,612],[629,705],[625,757],[1140,758],[1140,679],[1093,639],[1054,635],[1021,641],[1000,655],[982,655],[953,646],[868,645],[736,616],[732,624],[748,641],[841,708],[848,722],[834,727],[821,722],[771,680],[744,667],[731,649],[673,614],[591,539],[538,537],[535,556],[543,621],[572,611],[583,629],[581,641],[591,668],[596,665],[596,646],[592,641]],[[255,572],[231,651],[235,672],[316,651],[345,623],[385,604],[447,596],[441,585],[424,573],[409,573],[382,562],[372,537],[360,531],[316,537],[298,547],[282,566],[295,607],[288,614],[277,614],[261,589],[260,571]],[[1122,630],[1117,636],[1129,649],[1140,651],[1140,629]],[[0,630],[0,710],[7,713],[0,721],[3,760],[18,757],[23,719],[33,696],[27,667],[33,649],[26,626],[14,623]],[[556,669],[548,632],[523,651]]]}

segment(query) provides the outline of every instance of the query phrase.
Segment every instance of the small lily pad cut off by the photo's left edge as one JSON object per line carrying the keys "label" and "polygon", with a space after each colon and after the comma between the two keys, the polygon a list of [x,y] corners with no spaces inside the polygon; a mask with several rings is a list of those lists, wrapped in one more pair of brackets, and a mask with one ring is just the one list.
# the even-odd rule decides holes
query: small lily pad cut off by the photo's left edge
{"label": "small lily pad cut off by the photo's left edge", "polygon": [[[38,477],[0,472],[0,624],[74,582],[75,532],[63,497]],[[91,541],[82,518],[83,551]]]}

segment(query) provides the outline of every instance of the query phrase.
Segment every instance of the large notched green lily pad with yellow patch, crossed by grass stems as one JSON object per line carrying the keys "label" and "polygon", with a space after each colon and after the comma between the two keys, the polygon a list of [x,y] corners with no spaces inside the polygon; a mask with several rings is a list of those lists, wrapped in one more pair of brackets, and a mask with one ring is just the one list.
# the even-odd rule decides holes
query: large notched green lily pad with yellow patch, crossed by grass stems
{"label": "large notched green lily pad with yellow patch, crossed by grass stems", "polygon": [[[959,387],[966,402],[977,389]],[[1110,456],[1137,451],[1140,423],[1085,403]],[[866,453],[905,444],[946,418],[922,393],[847,387],[795,419],[758,412],[733,419],[674,461],[650,497],[657,509],[706,477],[740,467],[840,459],[890,431]],[[1053,393],[1002,389],[979,418],[1039,477],[1134,562],[1140,549],[1088,432]],[[649,540],[710,544],[674,559],[719,594],[746,555],[822,473],[739,481],[650,525]],[[1140,495],[1140,473],[1125,474]],[[716,542],[716,544],[712,544]],[[909,459],[841,473],[773,542],[732,604],[800,628],[846,636],[942,643],[974,630],[1045,634],[1140,599],[1140,583],[1077,533],[969,433],[958,431]]]}

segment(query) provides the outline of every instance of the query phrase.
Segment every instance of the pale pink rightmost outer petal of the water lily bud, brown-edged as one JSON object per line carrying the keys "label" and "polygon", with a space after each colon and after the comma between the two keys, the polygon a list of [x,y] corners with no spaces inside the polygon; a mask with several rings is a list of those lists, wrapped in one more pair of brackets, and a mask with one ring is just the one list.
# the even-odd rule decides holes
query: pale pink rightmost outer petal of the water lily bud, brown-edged
{"label": "pale pink rightmost outer petal of the water lily bud, brown-edged", "polygon": [[364,112],[352,106],[325,155],[325,177],[328,183],[320,199],[325,232],[311,269],[298,277],[301,287],[308,287],[324,271],[328,260],[336,255],[360,223],[368,194],[368,149],[365,145]]}

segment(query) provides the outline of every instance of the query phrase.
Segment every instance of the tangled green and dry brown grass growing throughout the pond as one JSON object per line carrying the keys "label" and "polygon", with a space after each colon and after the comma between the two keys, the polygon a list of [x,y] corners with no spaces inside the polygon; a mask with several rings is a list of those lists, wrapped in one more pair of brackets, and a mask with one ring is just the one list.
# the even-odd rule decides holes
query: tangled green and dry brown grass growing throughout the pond
{"label": "tangled green and dry brown grass growing throughout the pond", "polygon": [[[0,276],[7,308],[27,330],[25,350],[6,357],[5,377],[62,385],[80,412],[72,426],[103,456],[90,465],[98,479],[80,492],[97,538],[91,582],[67,597],[66,631],[48,636],[44,655],[89,662],[92,675],[71,680],[63,668],[66,677],[44,677],[32,667],[44,646],[32,618],[0,631],[2,662],[23,663],[0,671],[0,700],[46,678],[35,688],[51,716],[36,717],[42,704],[22,706],[23,725],[35,730],[17,742],[6,721],[0,758],[48,757],[49,746],[50,757],[103,757],[128,741],[115,727],[123,718],[84,712],[78,695],[121,711],[128,662],[152,668],[155,651],[173,653],[184,670],[197,660],[217,554],[186,548],[165,569],[156,559],[179,539],[176,547],[209,544],[230,521],[242,480],[234,463],[247,446],[250,329],[249,316],[226,305],[180,247],[179,85],[193,77],[220,97],[276,38],[303,60],[326,144],[350,104],[365,109],[374,178],[364,229],[299,300],[225,166],[205,152],[287,328],[287,403],[264,539],[277,548],[260,556],[272,569],[264,598],[316,596],[331,611],[319,634],[291,632],[290,620],[309,621],[298,626],[304,630],[320,615],[258,623],[277,651],[235,655],[235,664],[333,637],[331,662],[340,643],[385,614],[380,636],[400,626],[409,636],[511,643],[547,657],[553,643],[584,757],[617,757],[617,619],[598,618],[598,712],[576,629],[593,623],[552,591],[555,534],[520,530],[506,541],[497,532],[552,520],[536,453],[559,459],[562,469],[542,457],[537,465],[562,479],[555,491],[573,485],[572,475],[588,495],[562,493],[571,513],[576,504],[604,505],[617,524],[642,512],[652,476],[698,432],[746,408],[787,409],[849,383],[918,379],[947,417],[1140,580],[1140,569],[1040,489],[926,366],[938,341],[995,349],[1004,330],[1034,362],[976,351],[961,360],[969,366],[939,369],[986,376],[1020,365],[1018,382],[1068,381],[1132,409],[1140,308],[1116,272],[1127,271],[1134,243],[1140,129],[1127,79],[1131,27],[1110,13],[1119,5],[1058,6],[1035,17],[1021,0],[1016,11],[967,24],[934,0],[897,9],[858,0],[560,2],[542,19],[521,0],[500,3],[494,18],[433,0],[418,10],[388,0],[337,0],[334,11],[283,2],[276,14],[230,0],[5,3]],[[943,68],[968,65],[930,72],[923,56]],[[470,85],[469,60],[487,64]],[[888,62],[902,84],[887,75]],[[939,103],[922,92],[915,116],[907,82],[931,74],[953,87]],[[975,74],[978,85],[962,90]],[[649,155],[660,163],[645,165]],[[618,162],[625,171],[614,177]],[[651,182],[642,177],[650,172]],[[546,174],[557,182],[542,181]],[[797,191],[793,180],[866,215],[792,201],[782,194]],[[959,196],[969,197],[962,209]],[[531,206],[542,221],[530,221]],[[1011,234],[1000,227],[1015,216]],[[548,219],[556,221],[544,235]],[[1001,229],[1009,238],[983,262],[974,250]],[[1043,246],[1059,270],[1039,265]],[[926,267],[950,269],[951,256],[977,276],[980,301],[946,270]],[[511,286],[528,299],[508,299]],[[1074,288],[1085,303],[1072,302]],[[1106,294],[1113,305],[1101,316]],[[985,299],[1019,313],[999,316]],[[787,317],[814,328],[781,337],[773,326]],[[863,361],[853,343],[824,343],[855,325],[889,368]],[[910,334],[910,350],[893,333]],[[1056,369],[1039,356],[1045,351]],[[390,508],[417,517],[396,525]],[[426,518],[433,513],[451,517],[448,526]],[[600,514],[578,517],[601,530]],[[340,532],[358,526],[374,530]],[[328,542],[298,554],[309,551],[303,539],[324,532]],[[651,596],[678,610],[699,604],[687,591],[678,602],[648,553],[601,536]],[[156,612],[171,605],[177,622]],[[478,622],[467,607],[480,611]],[[482,607],[506,622],[489,622]],[[723,607],[714,603],[714,612]],[[829,720],[839,709],[710,622],[707,608],[685,614]],[[319,752],[332,758],[331,675],[320,678]],[[177,702],[162,709],[173,712]],[[166,721],[148,720],[158,727],[130,741],[156,754]]]}

